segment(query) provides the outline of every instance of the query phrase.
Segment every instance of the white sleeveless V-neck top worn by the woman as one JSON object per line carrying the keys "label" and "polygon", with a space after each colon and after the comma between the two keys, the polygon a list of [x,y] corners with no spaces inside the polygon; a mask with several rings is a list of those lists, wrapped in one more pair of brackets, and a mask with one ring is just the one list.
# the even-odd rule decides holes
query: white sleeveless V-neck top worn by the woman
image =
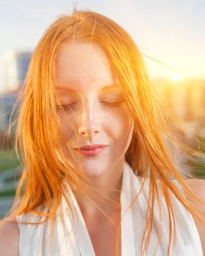
{"label": "white sleeveless V-neck top worn by the woman", "polygon": [[[141,239],[144,230],[145,217],[147,211],[147,198],[149,193],[149,179],[145,181],[143,190],[139,194],[132,207],[133,199],[139,193],[144,178],[134,174],[130,165],[124,163],[124,172],[121,188],[121,217],[124,218],[121,224],[121,255],[122,256],[140,256]],[[178,183],[177,183],[178,184]],[[78,213],[77,225],[72,227],[72,215],[62,196],[61,204],[55,213],[54,230],[52,240],[46,240],[49,237],[51,221],[43,224],[18,224],[20,231],[19,255],[20,256],[95,256],[92,242],[84,222],[83,215],[75,199],[75,196],[68,185],[69,194],[73,200]],[[172,194],[173,195],[173,194]],[[70,202],[70,197],[67,198]],[[160,195],[162,210],[162,238],[159,243],[156,256],[167,256],[167,247],[169,242],[169,220],[165,199]],[[72,205],[73,205],[72,204]],[[173,211],[176,220],[176,247],[172,250],[173,239],[171,243],[171,253],[173,256],[203,256],[202,244],[199,233],[189,213],[182,204],[173,196]],[[46,207],[41,207],[46,212]],[[75,208],[73,208],[75,220]],[[31,213],[23,213],[17,216],[17,220],[38,222],[45,217],[39,217]],[[150,245],[147,250],[148,256],[154,256],[158,241],[157,227],[159,223],[159,212],[157,207],[154,212],[154,225],[150,239]],[[75,239],[76,238],[76,239]],[[51,241],[51,246],[49,244]],[[45,246],[43,244],[46,242]],[[106,246],[106,245],[105,245]],[[43,249],[42,249],[43,247]],[[48,250],[49,249],[49,250]]]}

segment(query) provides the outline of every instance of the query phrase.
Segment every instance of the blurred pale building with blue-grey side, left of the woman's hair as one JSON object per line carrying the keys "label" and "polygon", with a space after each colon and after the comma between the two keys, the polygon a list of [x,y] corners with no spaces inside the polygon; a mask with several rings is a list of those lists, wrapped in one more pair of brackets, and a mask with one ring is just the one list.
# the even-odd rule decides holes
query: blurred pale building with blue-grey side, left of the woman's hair
{"label": "blurred pale building with blue-grey side, left of the woman's hair", "polygon": [[4,78],[6,92],[20,89],[28,71],[32,52],[8,50],[3,55]]}

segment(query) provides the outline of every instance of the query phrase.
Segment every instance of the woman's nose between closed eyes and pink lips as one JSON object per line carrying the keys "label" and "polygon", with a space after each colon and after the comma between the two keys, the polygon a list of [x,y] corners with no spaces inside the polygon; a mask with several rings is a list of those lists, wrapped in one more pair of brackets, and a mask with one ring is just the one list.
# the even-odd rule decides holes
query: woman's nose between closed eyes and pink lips
{"label": "woman's nose between closed eyes and pink lips", "polygon": [[100,116],[97,106],[85,104],[79,116],[78,134],[83,137],[91,137],[100,132]]}

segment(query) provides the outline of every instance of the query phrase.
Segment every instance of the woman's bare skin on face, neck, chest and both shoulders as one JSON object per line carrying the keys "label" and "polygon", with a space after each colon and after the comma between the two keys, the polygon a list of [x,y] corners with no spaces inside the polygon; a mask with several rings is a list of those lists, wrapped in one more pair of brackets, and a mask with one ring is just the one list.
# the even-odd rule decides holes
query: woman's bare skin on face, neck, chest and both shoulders
{"label": "woman's bare skin on face, neck, chest and both shoulders", "polygon": [[[83,67],[86,68],[86,71]],[[74,52],[73,42],[66,42],[65,47],[58,54],[56,72],[58,81],[56,90],[59,95],[64,97],[67,104],[76,102],[72,109],[74,113],[66,110],[66,116],[78,131],[78,137],[72,131],[72,127],[67,120],[59,114],[59,120],[66,138],[65,142],[61,136],[61,147],[65,157],[69,157],[73,166],[87,179],[103,186],[120,189],[124,154],[133,133],[133,120],[126,102],[120,108],[109,108],[103,103],[111,102],[111,99],[112,102],[124,100],[120,85],[110,67],[106,53],[95,44],[90,46],[80,41],[75,41]],[[103,87],[111,84],[115,84],[117,87],[103,89]],[[65,89],[62,90],[60,87],[65,87]],[[95,157],[80,156],[78,166],[74,157],[66,148],[66,143],[72,148],[78,146],[78,141],[79,146],[106,144],[107,148]],[[77,152],[73,151],[73,154],[78,158]],[[185,182],[205,202],[205,180],[185,180]],[[84,195],[79,193],[75,187],[73,188],[96,255],[115,255],[114,237],[116,233],[113,226],[99,212],[97,207],[93,207],[93,204]],[[86,189],[88,188],[86,187]],[[103,199],[107,196],[119,203],[119,194],[109,189],[101,188],[100,191],[104,194]],[[110,216],[115,224],[118,224],[120,211],[97,200],[95,203]],[[204,216],[203,218],[205,220]],[[195,219],[194,221],[205,253],[205,238],[203,236],[205,227]],[[107,244],[106,248],[103,246],[104,244]],[[1,255],[19,256],[18,245],[19,230],[17,224],[0,223]],[[121,255],[121,252],[119,255]]]}

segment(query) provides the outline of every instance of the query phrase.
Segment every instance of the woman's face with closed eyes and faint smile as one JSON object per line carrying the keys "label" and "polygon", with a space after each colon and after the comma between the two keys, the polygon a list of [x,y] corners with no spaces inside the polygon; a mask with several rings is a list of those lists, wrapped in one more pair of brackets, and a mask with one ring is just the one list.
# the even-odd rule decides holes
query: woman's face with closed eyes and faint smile
{"label": "woman's face with closed eyes and faint smile", "polygon": [[[119,161],[130,145],[133,119],[106,52],[97,44],[68,41],[56,59],[57,84],[66,117],[58,113],[66,140],[61,136],[64,156],[87,175],[100,177]],[[77,130],[78,136],[72,126]],[[75,148],[91,147],[80,150]],[[92,149],[95,148],[95,149]]]}

